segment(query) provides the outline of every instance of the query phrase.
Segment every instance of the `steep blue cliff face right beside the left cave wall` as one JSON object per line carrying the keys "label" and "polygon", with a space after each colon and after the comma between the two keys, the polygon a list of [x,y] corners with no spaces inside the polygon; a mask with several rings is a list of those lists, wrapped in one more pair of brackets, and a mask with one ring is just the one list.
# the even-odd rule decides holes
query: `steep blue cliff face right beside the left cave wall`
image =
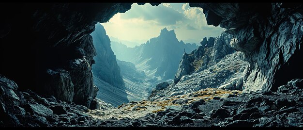
{"label": "steep blue cliff face right beside the left cave wall", "polygon": [[97,56],[93,58],[95,60],[95,65],[92,66],[93,74],[109,84],[123,85],[121,70],[116,56],[110,48],[110,39],[106,35],[104,27],[100,23],[96,24],[96,29],[91,36],[97,52]]}

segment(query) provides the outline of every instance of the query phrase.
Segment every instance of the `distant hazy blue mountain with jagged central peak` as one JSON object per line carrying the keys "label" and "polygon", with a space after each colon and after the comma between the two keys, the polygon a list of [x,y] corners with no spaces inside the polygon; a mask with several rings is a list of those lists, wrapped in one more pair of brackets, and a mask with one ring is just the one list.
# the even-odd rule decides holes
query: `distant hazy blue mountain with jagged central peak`
{"label": "distant hazy blue mountain with jagged central peak", "polygon": [[167,28],[162,29],[158,37],[151,38],[135,48],[127,48],[117,42],[114,44],[112,48],[118,51],[118,59],[134,63],[146,76],[158,80],[173,78],[184,49],[186,52],[197,49],[195,44],[178,41],[174,30],[168,31]]}

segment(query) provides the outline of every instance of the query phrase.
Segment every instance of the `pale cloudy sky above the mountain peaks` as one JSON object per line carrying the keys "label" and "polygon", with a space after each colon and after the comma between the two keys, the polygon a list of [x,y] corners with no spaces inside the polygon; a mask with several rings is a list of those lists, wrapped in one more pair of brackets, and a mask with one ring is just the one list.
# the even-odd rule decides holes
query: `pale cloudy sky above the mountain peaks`
{"label": "pale cloudy sky above the mountain peaks", "polygon": [[134,3],[130,10],[114,15],[102,25],[109,37],[129,41],[123,43],[128,47],[157,37],[163,28],[175,30],[179,41],[197,44],[205,36],[217,37],[223,31],[219,26],[207,25],[203,9],[189,7],[189,3],[162,3],[158,6]]}

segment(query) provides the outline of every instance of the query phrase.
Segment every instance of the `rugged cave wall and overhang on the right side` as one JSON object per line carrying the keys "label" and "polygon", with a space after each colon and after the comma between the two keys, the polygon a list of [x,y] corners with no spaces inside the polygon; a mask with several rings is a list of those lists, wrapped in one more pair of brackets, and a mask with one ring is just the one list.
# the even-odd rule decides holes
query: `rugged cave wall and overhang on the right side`
{"label": "rugged cave wall and overhang on the right side", "polygon": [[[303,39],[302,3],[190,3],[203,8],[209,25],[233,34],[232,48],[249,62],[243,78],[245,91],[277,90],[303,78],[300,60]],[[241,18],[239,18],[241,17]]]}

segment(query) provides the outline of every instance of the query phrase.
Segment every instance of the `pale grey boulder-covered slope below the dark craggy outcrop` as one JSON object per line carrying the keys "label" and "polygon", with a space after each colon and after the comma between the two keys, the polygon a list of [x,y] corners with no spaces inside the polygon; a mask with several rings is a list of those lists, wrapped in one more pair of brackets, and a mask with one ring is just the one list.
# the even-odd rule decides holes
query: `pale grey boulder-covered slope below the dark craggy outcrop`
{"label": "pale grey boulder-covered slope below the dark craggy outcrop", "polygon": [[[237,81],[239,82],[237,90],[242,90],[243,71],[248,63],[241,59],[242,52],[228,54],[207,69],[197,70],[190,75],[182,76],[177,84],[169,84],[167,87],[153,91],[150,99],[183,95],[205,88],[218,88],[221,86],[223,89],[235,90]],[[232,82],[236,82],[234,86],[228,85]],[[229,86],[229,88],[224,88],[224,85]]]}

